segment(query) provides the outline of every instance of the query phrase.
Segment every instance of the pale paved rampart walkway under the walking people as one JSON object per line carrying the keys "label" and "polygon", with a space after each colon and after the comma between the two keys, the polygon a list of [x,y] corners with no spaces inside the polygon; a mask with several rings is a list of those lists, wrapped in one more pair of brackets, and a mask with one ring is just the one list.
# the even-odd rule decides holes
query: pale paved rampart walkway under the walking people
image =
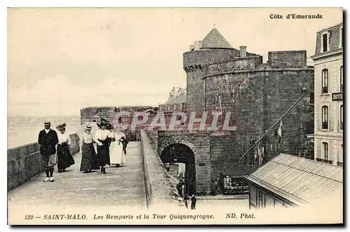
{"label": "pale paved rampart walkway under the walking people", "polygon": [[146,190],[140,142],[130,142],[126,164],[120,168],[107,168],[82,173],[81,154],[74,156],[76,164],[67,172],[54,172],[55,182],[43,182],[45,173],[33,181],[8,192],[8,205],[32,206],[108,206],[123,205],[146,208]]}

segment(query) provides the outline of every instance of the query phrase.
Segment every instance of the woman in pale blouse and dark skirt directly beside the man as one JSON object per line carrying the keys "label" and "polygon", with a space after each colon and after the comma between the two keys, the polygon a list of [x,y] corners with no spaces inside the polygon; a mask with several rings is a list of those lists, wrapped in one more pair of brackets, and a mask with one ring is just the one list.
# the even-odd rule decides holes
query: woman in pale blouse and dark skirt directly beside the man
{"label": "woman in pale blouse and dark skirt directly beside the man", "polygon": [[67,135],[66,132],[66,123],[57,126],[58,144],[57,144],[57,169],[58,172],[64,172],[66,168],[69,168],[73,165],[74,159],[71,156],[71,151],[69,150],[69,145],[71,144],[71,137]]}

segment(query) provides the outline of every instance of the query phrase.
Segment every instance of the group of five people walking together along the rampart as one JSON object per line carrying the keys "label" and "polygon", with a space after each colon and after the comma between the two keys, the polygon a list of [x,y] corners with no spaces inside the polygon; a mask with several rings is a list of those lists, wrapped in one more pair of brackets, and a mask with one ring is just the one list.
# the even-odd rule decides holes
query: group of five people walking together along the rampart
{"label": "group of five people walking together along the rampart", "polygon": [[[100,169],[101,173],[106,174],[106,168],[110,165],[114,164],[119,167],[125,163],[128,142],[120,126],[113,127],[104,118],[101,119],[100,123],[97,123],[97,126],[99,129],[93,136],[92,127],[85,125],[85,132],[80,137],[80,151],[82,153],[80,171],[88,173]],[[44,182],[54,182],[55,165],[57,164],[58,172],[64,172],[75,161],[69,150],[71,139],[65,133],[66,123],[57,126],[58,134],[50,128],[50,122],[45,122],[44,127],[38,135],[38,144],[40,144],[40,153],[46,174]],[[97,152],[94,149],[95,143],[97,144]]]}

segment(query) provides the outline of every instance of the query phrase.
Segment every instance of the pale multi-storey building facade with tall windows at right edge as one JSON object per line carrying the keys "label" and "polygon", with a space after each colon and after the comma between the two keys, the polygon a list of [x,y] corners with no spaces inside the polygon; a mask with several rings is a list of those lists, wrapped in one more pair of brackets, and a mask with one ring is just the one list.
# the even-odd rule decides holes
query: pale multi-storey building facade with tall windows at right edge
{"label": "pale multi-storey building facade with tall windows at right edge", "polygon": [[317,32],[314,60],[314,158],[343,165],[343,24]]}

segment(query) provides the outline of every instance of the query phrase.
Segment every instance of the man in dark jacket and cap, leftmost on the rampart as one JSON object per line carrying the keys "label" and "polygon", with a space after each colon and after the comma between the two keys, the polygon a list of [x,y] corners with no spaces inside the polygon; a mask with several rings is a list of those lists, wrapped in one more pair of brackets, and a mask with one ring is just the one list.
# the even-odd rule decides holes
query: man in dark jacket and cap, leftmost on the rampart
{"label": "man in dark jacket and cap, leftmost on the rampart", "polygon": [[44,182],[54,182],[53,169],[56,165],[56,145],[58,144],[57,132],[50,129],[51,123],[44,123],[45,129],[39,132],[38,144],[40,144],[41,158],[43,159],[43,168],[45,169],[46,178]]}

